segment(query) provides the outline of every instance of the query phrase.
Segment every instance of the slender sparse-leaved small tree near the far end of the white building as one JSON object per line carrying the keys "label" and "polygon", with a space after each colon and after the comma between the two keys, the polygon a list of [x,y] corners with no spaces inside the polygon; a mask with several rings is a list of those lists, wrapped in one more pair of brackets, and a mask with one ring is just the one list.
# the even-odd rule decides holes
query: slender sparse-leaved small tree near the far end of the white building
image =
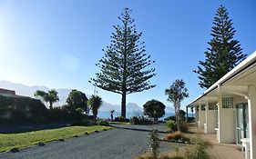
{"label": "slender sparse-leaved small tree near the far end of the white building", "polygon": [[165,94],[168,95],[168,101],[171,102],[174,106],[177,129],[180,131],[180,102],[185,97],[189,97],[185,82],[182,79],[175,80],[175,82],[170,85],[169,89],[165,90]]}

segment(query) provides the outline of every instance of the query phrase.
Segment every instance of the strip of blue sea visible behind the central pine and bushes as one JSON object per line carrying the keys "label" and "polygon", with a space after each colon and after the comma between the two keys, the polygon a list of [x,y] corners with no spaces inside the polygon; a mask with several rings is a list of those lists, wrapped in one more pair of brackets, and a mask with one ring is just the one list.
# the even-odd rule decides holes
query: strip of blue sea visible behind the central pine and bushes
{"label": "strip of blue sea visible behind the central pine and bushes", "polygon": [[[121,112],[114,112],[113,113],[113,117],[118,117],[121,115]],[[127,118],[131,118],[133,116],[142,116],[143,115],[143,112],[127,112]],[[174,116],[175,113],[166,113],[163,117],[159,118],[159,120],[164,120],[165,118],[169,117],[169,116]],[[192,114],[188,114],[189,117],[192,116]],[[110,112],[98,112],[97,113],[97,117],[99,118],[104,118],[104,119],[110,119]]]}

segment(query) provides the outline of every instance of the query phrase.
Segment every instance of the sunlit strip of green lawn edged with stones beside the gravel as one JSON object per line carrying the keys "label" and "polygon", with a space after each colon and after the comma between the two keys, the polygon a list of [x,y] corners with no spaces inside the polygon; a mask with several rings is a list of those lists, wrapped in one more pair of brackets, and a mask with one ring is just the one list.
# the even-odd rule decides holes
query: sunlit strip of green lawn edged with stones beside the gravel
{"label": "sunlit strip of green lawn edged with stones beside the gravel", "polygon": [[101,131],[103,129],[110,129],[108,126],[70,126],[57,129],[46,129],[35,132],[20,133],[20,134],[0,134],[0,152],[9,151],[10,149],[25,148],[38,142],[50,142],[58,140],[59,138],[67,139],[75,134],[81,135],[93,133],[94,131]]}

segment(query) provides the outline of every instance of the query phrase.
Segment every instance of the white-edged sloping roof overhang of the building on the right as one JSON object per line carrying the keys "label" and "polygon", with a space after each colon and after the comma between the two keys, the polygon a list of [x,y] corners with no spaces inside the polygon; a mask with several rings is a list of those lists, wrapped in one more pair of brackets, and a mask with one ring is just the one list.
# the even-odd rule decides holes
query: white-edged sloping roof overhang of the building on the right
{"label": "white-edged sloping roof overhang of the building on the right", "polygon": [[194,107],[205,102],[214,102],[218,96],[236,94],[248,95],[248,86],[256,84],[256,51],[248,56],[241,64],[234,67],[230,72],[212,84],[203,94],[200,94],[188,106]]}

